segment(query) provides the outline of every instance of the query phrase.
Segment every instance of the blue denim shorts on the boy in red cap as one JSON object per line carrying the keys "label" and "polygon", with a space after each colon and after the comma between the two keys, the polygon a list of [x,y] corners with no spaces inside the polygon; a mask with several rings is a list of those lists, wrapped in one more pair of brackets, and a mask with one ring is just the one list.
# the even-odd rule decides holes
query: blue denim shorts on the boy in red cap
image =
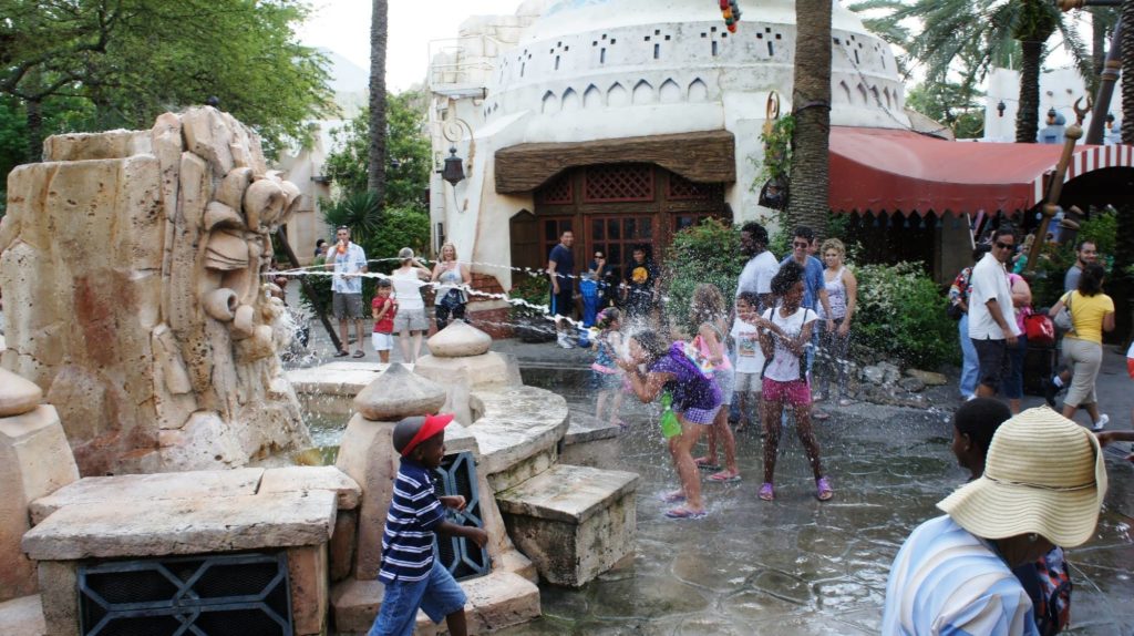
{"label": "blue denim shorts on the boy in red cap", "polygon": [[387,584],[382,608],[367,636],[413,636],[417,609],[433,622],[465,608],[465,591],[441,561],[433,559],[433,570],[422,580],[396,580]]}

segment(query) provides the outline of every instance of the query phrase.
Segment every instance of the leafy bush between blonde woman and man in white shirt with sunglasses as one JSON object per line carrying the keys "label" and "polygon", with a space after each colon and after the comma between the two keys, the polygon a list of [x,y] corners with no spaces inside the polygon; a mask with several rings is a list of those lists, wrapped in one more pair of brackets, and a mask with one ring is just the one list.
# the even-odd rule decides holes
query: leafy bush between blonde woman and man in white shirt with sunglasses
{"label": "leafy bush between blonde woman and man in white shirt with sunglasses", "polygon": [[946,315],[945,296],[920,265],[863,265],[854,273],[856,358],[881,356],[930,368],[959,361],[957,323]]}

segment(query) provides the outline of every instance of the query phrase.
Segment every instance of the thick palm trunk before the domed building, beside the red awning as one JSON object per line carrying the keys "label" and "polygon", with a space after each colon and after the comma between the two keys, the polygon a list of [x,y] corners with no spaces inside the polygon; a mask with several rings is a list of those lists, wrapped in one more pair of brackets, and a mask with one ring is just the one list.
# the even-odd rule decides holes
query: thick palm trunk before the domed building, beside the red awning
{"label": "thick palm trunk before the domed building, beside the red awning", "polygon": [[796,32],[807,36],[795,40],[795,134],[787,222],[790,227],[809,226],[824,237],[830,211],[831,0],[796,0],[795,20]]}

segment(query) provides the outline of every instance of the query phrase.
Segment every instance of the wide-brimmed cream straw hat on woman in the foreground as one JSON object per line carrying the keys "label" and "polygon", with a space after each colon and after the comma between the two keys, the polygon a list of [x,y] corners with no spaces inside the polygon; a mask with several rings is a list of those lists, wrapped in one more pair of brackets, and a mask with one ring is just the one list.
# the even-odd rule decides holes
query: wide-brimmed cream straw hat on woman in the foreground
{"label": "wide-brimmed cream straw hat on woman in the foreground", "polygon": [[1094,534],[1106,493],[1107,467],[1094,434],[1044,406],[1001,424],[984,475],[937,507],[982,539],[1036,533],[1074,548]]}

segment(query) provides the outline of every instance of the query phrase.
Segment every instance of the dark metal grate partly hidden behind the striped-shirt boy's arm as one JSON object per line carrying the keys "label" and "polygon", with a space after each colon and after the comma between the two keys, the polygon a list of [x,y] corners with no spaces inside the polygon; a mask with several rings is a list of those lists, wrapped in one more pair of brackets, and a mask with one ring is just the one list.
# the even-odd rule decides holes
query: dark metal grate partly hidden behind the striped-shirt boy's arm
{"label": "dark metal grate partly hidden behind the striped-shirt boy's arm", "polygon": [[[476,485],[476,463],[473,461],[473,453],[465,451],[447,455],[434,472],[439,477],[438,491],[441,494],[465,497],[465,510],[462,512],[448,510],[449,521],[483,528],[481,492]],[[486,550],[458,536],[437,535],[437,554],[457,580],[489,574],[492,566]]]}

